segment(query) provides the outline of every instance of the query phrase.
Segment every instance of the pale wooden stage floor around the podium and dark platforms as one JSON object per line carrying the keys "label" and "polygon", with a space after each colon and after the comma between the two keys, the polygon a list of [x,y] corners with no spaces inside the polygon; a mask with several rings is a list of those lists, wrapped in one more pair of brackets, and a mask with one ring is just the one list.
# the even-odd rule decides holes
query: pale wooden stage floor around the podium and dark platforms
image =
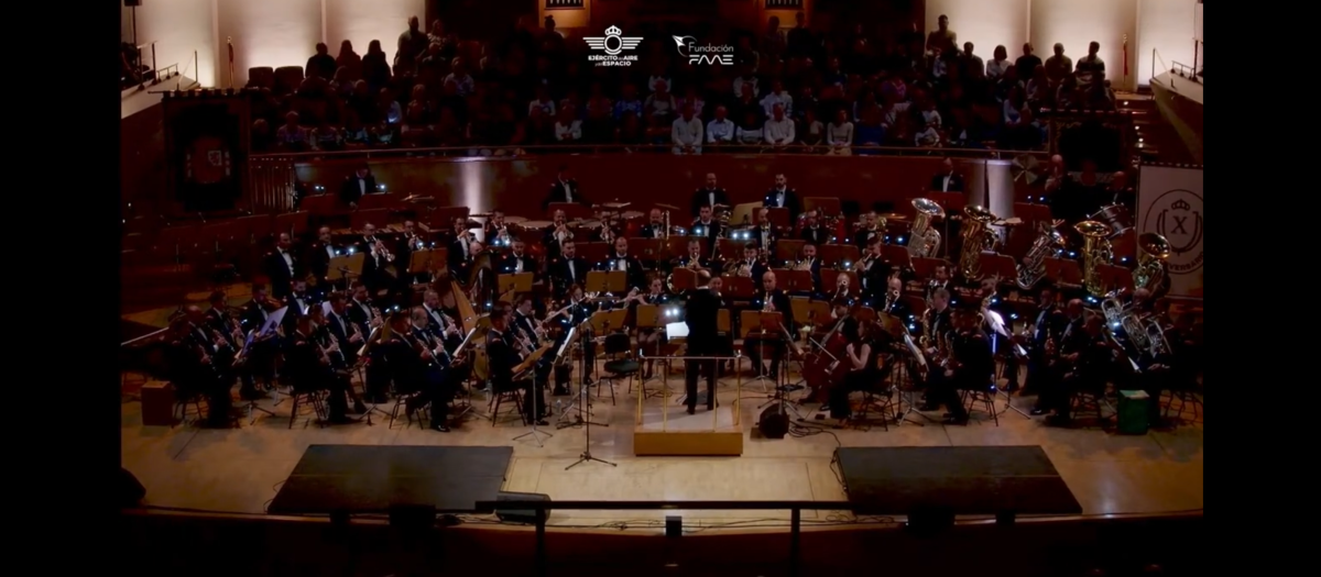
{"label": "pale wooden stage floor around the podium and dark platforms", "polygon": [[[672,386],[680,386],[671,379]],[[1112,435],[1099,429],[1049,428],[1041,419],[1016,412],[1001,415],[1000,426],[974,416],[967,427],[892,426],[889,431],[828,429],[804,437],[761,439],[752,429],[762,403],[760,387],[746,385],[740,407],[744,429],[742,457],[634,457],[635,398],[618,385],[618,404],[609,395],[596,402],[592,454],[617,462],[587,462],[565,470],[584,449],[581,428],[553,428],[544,447],[517,420],[491,427],[473,415],[453,432],[419,429],[416,423],[394,428],[387,419],[374,427],[350,424],[318,428],[301,419],[288,428],[288,400],[275,407],[283,416],[263,416],[239,429],[197,429],[190,426],[143,427],[140,404],[123,404],[123,465],[147,487],[147,503],[221,512],[262,514],[312,444],[358,445],[509,445],[514,460],[503,489],[544,493],[573,501],[844,501],[844,490],[831,468],[836,447],[941,447],[1040,445],[1054,462],[1087,515],[1152,514],[1199,510],[1203,503],[1202,426],[1153,431],[1145,436]],[[723,407],[733,406],[734,386],[721,381]],[[272,400],[264,400],[269,404]],[[1030,399],[1016,398],[1016,406]],[[485,404],[480,408],[485,410]],[[1003,399],[997,406],[1003,407]],[[384,407],[384,406],[383,406]],[[699,412],[700,415],[700,412]],[[379,415],[378,415],[379,416]],[[938,416],[938,415],[934,415]],[[808,416],[810,419],[810,416]],[[544,439],[544,435],[542,436]],[[836,441],[838,439],[838,441]],[[662,531],[664,514],[674,511],[555,511],[551,526],[609,527],[629,523]],[[683,511],[686,523],[712,528],[740,528],[787,519],[787,511]],[[847,515],[847,514],[845,514]],[[838,519],[828,511],[804,511],[806,522]]]}

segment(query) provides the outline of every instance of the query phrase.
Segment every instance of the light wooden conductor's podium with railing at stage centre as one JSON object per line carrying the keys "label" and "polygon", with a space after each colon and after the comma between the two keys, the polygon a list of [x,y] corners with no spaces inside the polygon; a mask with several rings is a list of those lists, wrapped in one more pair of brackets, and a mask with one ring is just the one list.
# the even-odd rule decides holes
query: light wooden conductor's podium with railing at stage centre
{"label": "light wooden conductor's podium with railing at stage centre", "polygon": [[[670,357],[683,374],[682,357]],[[655,358],[658,362],[663,358]],[[667,374],[668,371],[658,371]],[[663,377],[668,378],[668,377]],[[670,379],[649,393],[639,394],[637,415],[633,427],[633,454],[638,457],[738,457],[742,456],[744,428],[740,416],[742,398],[741,381],[734,385],[733,402],[723,402],[715,411],[705,406],[705,378],[697,379],[697,412],[688,414],[688,406],[680,403],[684,394],[684,381]],[[717,397],[719,397],[719,386]],[[671,390],[672,387],[672,390]]]}

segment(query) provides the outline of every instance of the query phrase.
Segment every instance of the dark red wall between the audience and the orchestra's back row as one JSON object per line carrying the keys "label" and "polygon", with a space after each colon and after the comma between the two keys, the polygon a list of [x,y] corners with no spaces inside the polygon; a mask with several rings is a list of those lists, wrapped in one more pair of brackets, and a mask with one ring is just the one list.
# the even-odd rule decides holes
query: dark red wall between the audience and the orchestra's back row
{"label": "dark red wall between the audience and the orchestra's back row", "polygon": [[[334,191],[361,161],[320,161],[297,165],[299,179]],[[762,199],[783,171],[799,196],[838,196],[902,204],[927,190],[939,157],[765,157],[668,154],[538,155],[517,159],[374,159],[376,180],[400,194],[429,195],[437,204],[468,206],[473,212],[495,208],[536,216],[557,167],[573,171],[583,195],[593,203],[629,202],[637,208],[668,203],[687,209],[688,198],[716,173],[734,203]],[[970,190],[980,190],[982,161],[958,161]]]}

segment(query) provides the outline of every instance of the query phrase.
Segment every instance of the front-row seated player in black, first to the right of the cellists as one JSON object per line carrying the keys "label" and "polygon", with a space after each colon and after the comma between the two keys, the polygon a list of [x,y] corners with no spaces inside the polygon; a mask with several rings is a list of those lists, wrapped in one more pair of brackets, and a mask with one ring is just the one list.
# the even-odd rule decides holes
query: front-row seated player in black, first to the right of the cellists
{"label": "front-row seated player in black, first to the right of the cellists", "polygon": [[945,379],[941,386],[927,391],[927,398],[935,394],[937,402],[950,408],[946,424],[967,424],[968,411],[963,407],[959,391],[989,390],[995,378],[995,357],[991,353],[991,340],[982,331],[982,317],[972,306],[964,306],[955,315],[956,333],[950,343],[946,358]]}

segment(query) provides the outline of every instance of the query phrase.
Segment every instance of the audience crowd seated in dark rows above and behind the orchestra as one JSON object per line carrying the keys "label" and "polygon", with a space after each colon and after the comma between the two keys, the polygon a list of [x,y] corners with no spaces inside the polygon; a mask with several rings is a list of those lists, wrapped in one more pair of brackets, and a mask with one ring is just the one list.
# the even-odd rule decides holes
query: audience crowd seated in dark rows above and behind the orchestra
{"label": "audience crowd seated in dark rows above and behind the orchestra", "polygon": [[[956,43],[950,18],[926,38],[914,26],[885,38],[859,24],[815,32],[804,17],[765,33],[731,32],[734,66],[687,66],[654,50],[633,67],[596,67],[553,18],[523,20],[505,40],[465,40],[416,17],[394,54],[342,41],[308,58],[305,79],[252,92],[254,150],[462,146],[509,154],[523,145],[627,145],[700,154],[704,146],[867,154],[878,146],[1041,149],[1042,108],[1112,109],[1099,43],[1074,65],[1057,43],[1045,62],[1030,43],[983,61]],[[647,43],[668,41],[645,30]],[[962,47],[962,50],[959,50]],[[679,96],[682,95],[682,96]],[[520,104],[526,103],[526,104]],[[273,132],[271,126],[279,126]],[[649,145],[646,148],[637,148]],[[507,151],[502,151],[507,150]],[[871,150],[875,153],[875,150]]]}

